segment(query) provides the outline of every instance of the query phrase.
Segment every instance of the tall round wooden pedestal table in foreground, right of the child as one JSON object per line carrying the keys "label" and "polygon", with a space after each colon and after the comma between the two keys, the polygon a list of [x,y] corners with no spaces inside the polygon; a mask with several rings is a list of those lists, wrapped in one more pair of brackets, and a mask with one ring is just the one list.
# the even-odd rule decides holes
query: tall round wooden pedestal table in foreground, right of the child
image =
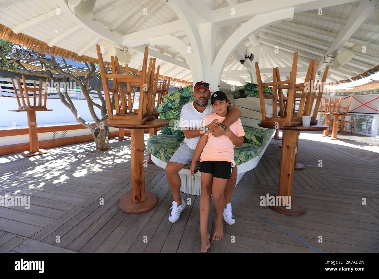
{"label": "tall round wooden pedestal table in foreground, right of the child", "polygon": [[[274,129],[275,125],[263,125],[258,123],[258,126],[263,128]],[[292,197],[293,187],[293,172],[296,162],[297,144],[299,141],[300,131],[322,131],[327,129],[327,125],[310,125],[303,126],[279,126],[283,130],[282,142],[282,157],[280,159],[280,176],[279,189],[277,196],[291,196],[291,209],[286,209],[285,206],[270,206],[276,212],[284,215],[299,216],[305,213],[307,209],[304,204]]]}

